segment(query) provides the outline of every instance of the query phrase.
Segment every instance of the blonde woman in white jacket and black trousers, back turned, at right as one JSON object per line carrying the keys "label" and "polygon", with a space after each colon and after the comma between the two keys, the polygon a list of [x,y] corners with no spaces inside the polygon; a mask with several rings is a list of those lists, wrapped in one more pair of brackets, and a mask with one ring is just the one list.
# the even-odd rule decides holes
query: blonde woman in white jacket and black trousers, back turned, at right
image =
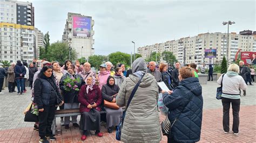
{"label": "blonde woman in white jacket and black trousers, back turned, at right", "polygon": [[240,110],[240,91],[246,90],[247,86],[244,79],[239,75],[239,67],[235,63],[231,64],[227,73],[220,76],[217,81],[218,84],[223,82],[223,93],[221,94],[221,102],[223,105],[223,129],[224,133],[230,131],[230,104],[232,104],[233,126],[232,131],[234,135],[239,132],[239,110]]}

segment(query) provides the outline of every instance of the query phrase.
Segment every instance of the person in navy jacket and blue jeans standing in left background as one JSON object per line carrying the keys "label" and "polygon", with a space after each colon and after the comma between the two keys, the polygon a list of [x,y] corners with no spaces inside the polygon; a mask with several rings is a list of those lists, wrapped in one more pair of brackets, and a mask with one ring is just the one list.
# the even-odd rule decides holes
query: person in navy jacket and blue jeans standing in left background
{"label": "person in navy jacket and blue jeans standing in left background", "polygon": [[18,95],[22,95],[24,90],[23,80],[24,80],[24,75],[26,74],[26,69],[22,65],[21,60],[17,61],[17,64],[14,67],[14,73],[15,73],[15,79],[16,79],[17,88],[18,88]]}

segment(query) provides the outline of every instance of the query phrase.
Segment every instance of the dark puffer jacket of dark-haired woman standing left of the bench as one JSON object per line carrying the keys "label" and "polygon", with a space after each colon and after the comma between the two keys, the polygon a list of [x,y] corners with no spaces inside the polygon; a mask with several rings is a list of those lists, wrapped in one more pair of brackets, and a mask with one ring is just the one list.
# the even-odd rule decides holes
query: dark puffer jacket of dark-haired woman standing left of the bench
{"label": "dark puffer jacket of dark-haired woman standing left of the bench", "polygon": [[[54,89],[54,90],[53,90]],[[57,90],[57,84],[55,80],[42,76],[36,79],[34,84],[34,100],[38,106],[38,109],[44,108],[44,106],[52,106],[56,104],[56,94],[62,99],[60,93]]]}

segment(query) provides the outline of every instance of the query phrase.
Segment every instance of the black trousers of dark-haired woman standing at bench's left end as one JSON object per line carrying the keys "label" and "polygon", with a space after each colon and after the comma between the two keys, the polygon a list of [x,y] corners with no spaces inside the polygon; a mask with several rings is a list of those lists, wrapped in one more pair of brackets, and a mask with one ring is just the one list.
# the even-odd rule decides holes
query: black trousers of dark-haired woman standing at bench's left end
{"label": "black trousers of dark-haired woman standing at bench's left end", "polygon": [[44,138],[45,135],[52,135],[52,121],[55,116],[55,105],[53,106],[44,106],[44,111],[39,112],[39,136]]}

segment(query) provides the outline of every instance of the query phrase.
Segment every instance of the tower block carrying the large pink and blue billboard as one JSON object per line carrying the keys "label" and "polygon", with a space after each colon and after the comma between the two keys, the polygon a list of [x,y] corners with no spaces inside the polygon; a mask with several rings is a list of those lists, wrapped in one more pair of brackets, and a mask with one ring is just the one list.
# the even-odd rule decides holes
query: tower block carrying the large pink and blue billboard
{"label": "tower block carrying the large pink and blue billboard", "polygon": [[77,58],[83,56],[87,59],[94,54],[94,49],[92,48],[95,42],[92,38],[92,35],[94,35],[93,25],[94,20],[92,20],[92,17],[78,13],[68,13],[62,41],[67,42],[72,49],[76,50]]}

